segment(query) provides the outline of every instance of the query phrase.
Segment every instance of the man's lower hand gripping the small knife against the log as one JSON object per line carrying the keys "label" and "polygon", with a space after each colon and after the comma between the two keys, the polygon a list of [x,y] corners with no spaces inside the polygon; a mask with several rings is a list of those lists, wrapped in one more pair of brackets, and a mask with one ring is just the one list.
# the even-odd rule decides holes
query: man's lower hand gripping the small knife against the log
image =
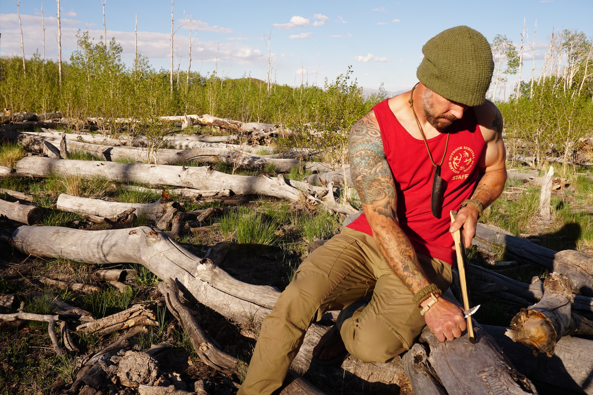
{"label": "man's lower hand gripping the small knife against the log", "polygon": [[[432,297],[422,302],[422,307],[428,304]],[[463,318],[463,308],[452,304],[448,300],[438,298],[438,302],[426,311],[424,315],[426,325],[439,341],[444,342],[460,337],[466,330],[466,319]]]}

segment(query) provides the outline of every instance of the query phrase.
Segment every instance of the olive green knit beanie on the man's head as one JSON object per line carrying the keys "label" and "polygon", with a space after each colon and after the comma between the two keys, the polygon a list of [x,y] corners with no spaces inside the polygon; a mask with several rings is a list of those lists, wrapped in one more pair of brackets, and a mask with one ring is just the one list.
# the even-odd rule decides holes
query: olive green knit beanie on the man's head
{"label": "olive green knit beanie on the man's head", "polygon": [[467,26],[441,31],[422,47],[416,76],[430,90],[467,106],[480,106],[494,62],[486,37]]}

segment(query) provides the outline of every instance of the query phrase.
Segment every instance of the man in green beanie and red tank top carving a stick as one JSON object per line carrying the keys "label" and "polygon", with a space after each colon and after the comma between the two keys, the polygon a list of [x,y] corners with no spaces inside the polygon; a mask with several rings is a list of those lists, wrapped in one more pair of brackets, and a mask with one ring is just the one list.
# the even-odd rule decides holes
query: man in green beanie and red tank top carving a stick
{"label": "man in green beanie and red tank top carving a stick", "polygon": [[[469,247],[506,180],[502,116],[484,100],[492,53],[467,26],[439,33],[422,52],[419,84],[377,104],[350,131],[364,214],[299,266],[263,320],[239,394],[279,388],[308,326],[329,310],[342,312],[313,351],[319,365],[339,365],[347,353],[388,362],[425,324],[441,341],[466,329],[461,309],[441,294],[452,279],[450,232],[463,226]],[[450,210],[458,210],[453,224]]]}

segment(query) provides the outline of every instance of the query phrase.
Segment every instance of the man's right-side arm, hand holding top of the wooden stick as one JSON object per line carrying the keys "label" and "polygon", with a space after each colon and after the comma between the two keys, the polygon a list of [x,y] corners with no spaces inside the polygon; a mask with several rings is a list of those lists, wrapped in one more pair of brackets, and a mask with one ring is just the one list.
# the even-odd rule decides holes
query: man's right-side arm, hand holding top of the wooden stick
{"label": "man's right-side arm, hand holding top of the wooden stick", "polygon": [[[486,208],[494,202],[505,187],[506,150],[502,141],[502,114],[492,101],[486,100],[482,106],[474,107],[482,130],[486,147],[478,163],[480,180],[471,199],[480,200]],[[471,239],[476,233],[479,212],[476,206],[467,205],[458,212],[457,220],[451,224],[450,232],[463,226],[463,238],[466,248],[471,246]]]}

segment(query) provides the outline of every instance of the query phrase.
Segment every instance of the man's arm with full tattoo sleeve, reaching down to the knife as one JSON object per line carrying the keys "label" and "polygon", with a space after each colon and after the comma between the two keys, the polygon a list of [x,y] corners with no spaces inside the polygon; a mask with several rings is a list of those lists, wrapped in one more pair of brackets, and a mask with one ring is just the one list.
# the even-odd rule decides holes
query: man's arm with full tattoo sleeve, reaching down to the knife
{"label": "man's arm with full tattoo sleeve, reaching down to the knife", "polygon": [[[375,242],[393,272],[416,293],[431,282],[426,279],[410,240],[398,225],[396,184],[385,158],[381,132],[373,112],[352,127],[348,149],[352,180]],[[426,303],[428,300],[423,305]],[[460,308],[443,298],[438,299],[425,319],[432,333],[441,341],[445,337],[452,340],[461,336],[466,328]]]}

